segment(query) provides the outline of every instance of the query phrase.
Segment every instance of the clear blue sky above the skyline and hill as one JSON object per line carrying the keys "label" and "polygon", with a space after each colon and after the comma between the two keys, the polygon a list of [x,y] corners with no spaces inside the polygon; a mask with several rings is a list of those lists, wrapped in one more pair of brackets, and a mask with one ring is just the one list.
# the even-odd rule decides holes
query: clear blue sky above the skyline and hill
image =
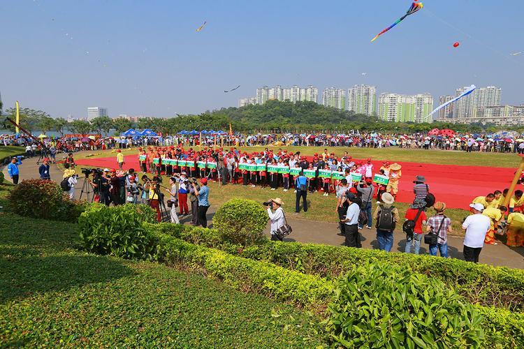
{"label": "clear blue sky above the skyline and hill", "polygon": [[524,103],[524,53],[511,56],[524,52],[524,1],[423,3],[370,43],[409,1],[0,0],[0,92],[6,107],[53,117],[97,105],[110,116],[198,113],[265,84],[435,98],[496,85],[503,103]]}

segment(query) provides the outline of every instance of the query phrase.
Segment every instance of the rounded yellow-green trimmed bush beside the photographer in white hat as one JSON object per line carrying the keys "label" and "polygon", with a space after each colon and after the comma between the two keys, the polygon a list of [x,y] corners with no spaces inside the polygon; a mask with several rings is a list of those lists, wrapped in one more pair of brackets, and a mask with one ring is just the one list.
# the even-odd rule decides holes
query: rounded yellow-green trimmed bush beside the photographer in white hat
{"label": "rounded yellow-green trimmed bush beside the photographer in white hat", "polygon": [[267,224],[267,212],[254,200],[229,200],[213,216],[213,227],[225,241],[244,246],[260,242]]}

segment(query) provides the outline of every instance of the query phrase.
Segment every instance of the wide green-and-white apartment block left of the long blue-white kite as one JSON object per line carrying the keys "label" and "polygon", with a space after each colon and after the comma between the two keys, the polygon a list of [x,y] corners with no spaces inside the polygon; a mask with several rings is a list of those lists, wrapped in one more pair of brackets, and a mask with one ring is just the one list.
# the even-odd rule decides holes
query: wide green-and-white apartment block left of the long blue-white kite
{"label": "wide green-and-white apartment block left of the long blue-white kite", "polygon": [[379,118],[384,121],[432,122],[428,118],[432,109],[433,97],[430,94],[381,94],[379,98]]}

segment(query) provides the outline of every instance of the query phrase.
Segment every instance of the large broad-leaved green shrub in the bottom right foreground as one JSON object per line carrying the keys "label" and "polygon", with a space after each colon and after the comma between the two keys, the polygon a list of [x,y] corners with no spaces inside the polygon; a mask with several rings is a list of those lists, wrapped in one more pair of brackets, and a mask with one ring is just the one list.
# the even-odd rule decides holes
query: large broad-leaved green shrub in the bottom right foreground
{"label": "large broad-leaved green shrub in the bottom right foreground", "polygon": [[328,331],[347,348],[479,348],[482,317],[438,281],[408,267],[356,267],[335,288]]}

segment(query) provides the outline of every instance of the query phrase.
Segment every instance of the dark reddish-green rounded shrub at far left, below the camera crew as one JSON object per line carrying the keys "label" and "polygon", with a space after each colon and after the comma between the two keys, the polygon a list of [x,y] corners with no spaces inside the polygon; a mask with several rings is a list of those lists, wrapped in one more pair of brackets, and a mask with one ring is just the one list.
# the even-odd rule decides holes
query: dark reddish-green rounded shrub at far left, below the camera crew
{"label": "dark reddish-green rounded shrub at far left, below the camera crew", "polygon": [[43,179],[29,179],[15,186],[8,195],[10,211],[20,216],[59,221],[77,221],[85,204],[69,200],[59,184]]}

